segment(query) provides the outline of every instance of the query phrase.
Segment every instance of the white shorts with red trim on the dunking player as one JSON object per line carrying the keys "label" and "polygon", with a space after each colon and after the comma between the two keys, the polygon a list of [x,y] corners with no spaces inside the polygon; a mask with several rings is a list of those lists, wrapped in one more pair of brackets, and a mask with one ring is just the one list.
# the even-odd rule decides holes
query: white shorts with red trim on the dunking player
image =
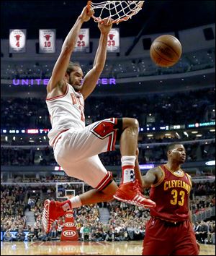
{"label": "white shorts with red trim on the dunking player", "polygon": [[98,154],[114,150],[117,119],[96,121],[84,129],[71,128],[55,137],[55,160],[68,176],[102,190],[112,180]]}

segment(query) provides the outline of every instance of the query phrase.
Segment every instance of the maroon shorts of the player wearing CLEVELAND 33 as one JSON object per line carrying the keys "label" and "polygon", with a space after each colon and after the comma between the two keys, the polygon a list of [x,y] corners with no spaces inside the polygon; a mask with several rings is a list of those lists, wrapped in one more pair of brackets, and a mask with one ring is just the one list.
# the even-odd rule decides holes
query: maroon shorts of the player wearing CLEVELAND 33
{"label": "maroon shorts of the player wearing CLEVELAND 33", "polygon": [[150,218],[145,229],[143,255],[199,255],[192,224],[183,221],[176,226]]}

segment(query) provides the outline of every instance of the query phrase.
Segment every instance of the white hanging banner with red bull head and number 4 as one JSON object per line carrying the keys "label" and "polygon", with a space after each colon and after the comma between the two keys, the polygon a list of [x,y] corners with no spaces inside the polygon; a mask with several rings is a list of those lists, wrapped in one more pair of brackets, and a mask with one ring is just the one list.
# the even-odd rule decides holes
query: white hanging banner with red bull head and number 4
{"label": "white hanging banner with red bull head and number 4", "polygon": [[25,53],[26,30],[9,30],[9,53]]}

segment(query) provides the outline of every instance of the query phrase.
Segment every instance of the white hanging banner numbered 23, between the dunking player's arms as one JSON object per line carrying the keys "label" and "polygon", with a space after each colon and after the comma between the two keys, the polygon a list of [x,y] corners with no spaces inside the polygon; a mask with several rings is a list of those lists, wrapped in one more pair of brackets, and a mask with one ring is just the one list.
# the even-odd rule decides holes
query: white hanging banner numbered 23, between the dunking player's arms
{"label": "white hanging banner numbered 23, between the dunking player's arms", "polygon": [[81,28],[78,33],[76,46],[74,52],[86,52],[89,53],[89,28]]}

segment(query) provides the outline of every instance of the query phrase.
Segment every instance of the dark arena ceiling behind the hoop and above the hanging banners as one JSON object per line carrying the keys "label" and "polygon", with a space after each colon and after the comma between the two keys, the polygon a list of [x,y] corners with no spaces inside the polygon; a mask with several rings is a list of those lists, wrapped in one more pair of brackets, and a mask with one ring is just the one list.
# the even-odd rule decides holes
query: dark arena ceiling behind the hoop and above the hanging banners
{"label": "dark arena ceiling behind the hoop and above the hanging banners", "polygon": [[[99,1],[98,1],[99,2]],[[65,38],[81,13],[86,1],[1,1],[1,38],[9,37],[10,28],[26,28],[27,37],[38,37],[39,28],[56,28],[57,38]],[[215,1],[152,1],[146,0],[143,10],[132,20],[122,22],[121,36],[135,36],[184,30],[215,23]],[[94,21],[84,24],[91,28],[91,38],[99,37]]]}

